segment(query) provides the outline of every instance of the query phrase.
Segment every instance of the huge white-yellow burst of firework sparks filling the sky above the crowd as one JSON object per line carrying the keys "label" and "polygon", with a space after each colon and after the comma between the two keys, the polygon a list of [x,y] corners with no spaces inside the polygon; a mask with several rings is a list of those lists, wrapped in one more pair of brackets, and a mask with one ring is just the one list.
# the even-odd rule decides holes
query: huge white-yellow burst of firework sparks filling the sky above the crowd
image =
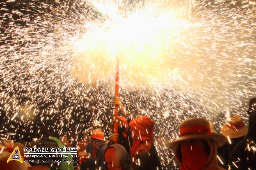
{"label": "huge white-yellow burst of firework sparks filling the sky above the crowd", "polygon": [[165,167],[159,141],[180,121],[223,123],[255,96],[255,1],[8,0],[0,13],[1,140],[43,125],[79,137],[95,120],[109,136],[117,58],[122,102],[154,119]]}

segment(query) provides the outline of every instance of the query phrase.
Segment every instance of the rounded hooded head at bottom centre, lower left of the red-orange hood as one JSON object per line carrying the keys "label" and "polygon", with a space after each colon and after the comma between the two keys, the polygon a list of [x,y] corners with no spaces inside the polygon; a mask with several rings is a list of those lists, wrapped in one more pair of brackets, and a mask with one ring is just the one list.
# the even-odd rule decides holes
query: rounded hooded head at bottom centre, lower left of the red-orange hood
{"label": "rounded hooded head at bottom centre, lower left of the red-orange hood", "polygon": [[131,169],[131,159],[127,151],[125,150],[124,146],[120,144],[113,144],[109,146],[104,153],[104,160],[117,161],[119,162],[119,165],[123,167],[124,170]]}

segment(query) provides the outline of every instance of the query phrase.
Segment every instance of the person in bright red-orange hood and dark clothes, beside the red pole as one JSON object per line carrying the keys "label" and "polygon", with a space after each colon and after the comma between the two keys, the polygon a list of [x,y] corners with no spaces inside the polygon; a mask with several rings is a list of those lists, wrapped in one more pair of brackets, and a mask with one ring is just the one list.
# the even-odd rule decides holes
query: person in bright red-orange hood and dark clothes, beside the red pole
{"label": "person in bright red-orange hood and dark clothes, beside the red pole", "polygon": [[132,169],[162,169],[154,146],[154,122],[147,116],[131,120]]}

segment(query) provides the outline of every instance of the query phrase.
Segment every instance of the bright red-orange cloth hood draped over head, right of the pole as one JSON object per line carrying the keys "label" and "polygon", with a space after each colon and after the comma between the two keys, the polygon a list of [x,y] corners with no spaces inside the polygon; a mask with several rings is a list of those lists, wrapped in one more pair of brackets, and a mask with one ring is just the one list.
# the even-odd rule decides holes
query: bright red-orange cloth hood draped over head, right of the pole
{"label": "bright red-orange cloth hood draped over head, right of the pole", "polygon": [[[129,126],[133,134],[131,157],[136,157],[135,154],[140,150],[145,150],[149,153],[154,139],[154,122],[147,116],[140,116],[131,120]],[[140,148],[142,143],[145,144]]]}

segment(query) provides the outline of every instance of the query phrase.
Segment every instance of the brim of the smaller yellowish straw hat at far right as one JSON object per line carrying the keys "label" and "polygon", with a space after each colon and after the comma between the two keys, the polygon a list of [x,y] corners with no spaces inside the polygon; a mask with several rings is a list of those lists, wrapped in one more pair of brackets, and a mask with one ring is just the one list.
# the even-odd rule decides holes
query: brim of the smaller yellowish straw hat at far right
{"label": "brim of the smaller yellowish straw hat at far right", "polygon": [[220,132],[221,134],[228,136],[230,138],[237,138],[237,137],[242,137],[248,134],[248,128],[243,127],[243,128],[237,128],[236,130],[236,129],[229,128],[228,125],[223,125]]}

